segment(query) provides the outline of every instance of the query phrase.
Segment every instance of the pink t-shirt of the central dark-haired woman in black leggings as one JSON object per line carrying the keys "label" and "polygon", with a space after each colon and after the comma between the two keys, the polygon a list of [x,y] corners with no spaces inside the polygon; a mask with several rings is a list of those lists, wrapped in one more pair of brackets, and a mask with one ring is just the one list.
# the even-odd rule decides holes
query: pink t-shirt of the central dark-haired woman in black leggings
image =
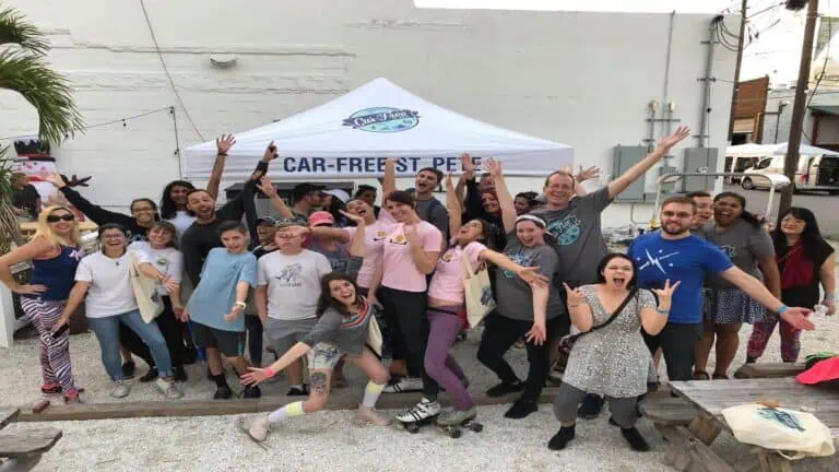
{"label": "pink t-shirt of the central dark-haired woman in black leggings", "polygon": [[[411,257],[404,226],[404,223],[391,225],[382,241],[381,263],[385,274],[381,278],[381,285],[405,292],[425,292],[428,284],[425,281],[425,274],[420,272]],[[416,236],[423,250],[440,252],[442,234],[436,226],[421,221],[416,224]]]}

